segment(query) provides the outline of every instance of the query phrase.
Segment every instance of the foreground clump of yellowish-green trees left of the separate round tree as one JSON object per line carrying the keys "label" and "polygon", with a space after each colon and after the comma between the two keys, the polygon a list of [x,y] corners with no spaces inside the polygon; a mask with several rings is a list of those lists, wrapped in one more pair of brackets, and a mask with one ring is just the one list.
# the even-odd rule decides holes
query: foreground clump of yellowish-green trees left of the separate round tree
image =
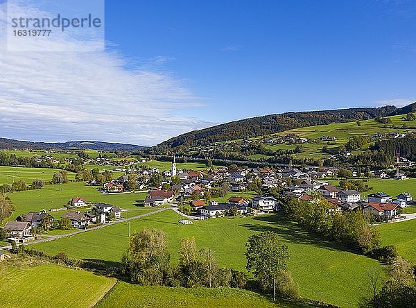
{"label": "foreground clump of yellowish-green trees left of the separate round tree", "polygon": [[166,233],[144,229],[130,238],[130,246],[123,256],[123,273],[130,281],[154,286],[231,286],[243,288],[244,273],[219,268],[211,250],[198,250],[194,238],[181,239],[179,264],[171,264]]}

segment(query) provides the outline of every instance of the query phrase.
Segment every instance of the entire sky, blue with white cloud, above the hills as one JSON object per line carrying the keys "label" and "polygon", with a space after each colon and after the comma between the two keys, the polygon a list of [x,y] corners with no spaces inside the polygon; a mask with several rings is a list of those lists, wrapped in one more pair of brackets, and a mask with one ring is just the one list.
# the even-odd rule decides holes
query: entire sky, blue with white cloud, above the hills
{"label": "entire sky, blue with white cloud, above the hills", "polygon": [[[48,1],[7,3],[64,14]],[[153,145],[257,115],[416,101],[414,1],[107,0],[94,52],[53,35],[42,47],[56,52],[12,52],[8,18],[0,0],[0,137]]]}

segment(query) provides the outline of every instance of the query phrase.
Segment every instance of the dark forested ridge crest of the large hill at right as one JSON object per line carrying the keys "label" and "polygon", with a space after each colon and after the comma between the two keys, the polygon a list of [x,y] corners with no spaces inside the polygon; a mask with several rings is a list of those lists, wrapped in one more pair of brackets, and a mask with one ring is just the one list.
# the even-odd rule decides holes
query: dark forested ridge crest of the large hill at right
{"label": "dark forested ridge crest of the large hill at right", "polygon": [[220,124],[211,128],[205,128],[203,130],[188,132],[178,137],[168,139],[166,142],[162,142],[162,144],[153,147],[152,151],[164,151],[166,148],[175,148],[176,146],[181,145],[198,146],[210,142],[247,139],[305,126],[367,120],[375,117],[386,117],[393,114],[406,114],[415,109],[416,103],[404,108],[396,108],[395,106],[387,105],[379,108],[349,108],[270,114],[263,117],[243,119]]}

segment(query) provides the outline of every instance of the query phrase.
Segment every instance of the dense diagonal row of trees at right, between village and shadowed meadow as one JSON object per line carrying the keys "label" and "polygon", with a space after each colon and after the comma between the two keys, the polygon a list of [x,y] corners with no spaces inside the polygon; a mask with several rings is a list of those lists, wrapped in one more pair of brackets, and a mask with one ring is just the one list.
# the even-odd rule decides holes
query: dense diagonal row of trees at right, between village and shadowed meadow
{"label": "dense diagonal row of trees at right, between village and shadowed meadow", "polygon": [[288,219],[297,221],[306,230],[363,254],[379,248],[379,234],[370,226],[369,218],[361,212],[336,212],[333,205],[318,194],[312,195],[310,201],[289,200],[284,210]]}

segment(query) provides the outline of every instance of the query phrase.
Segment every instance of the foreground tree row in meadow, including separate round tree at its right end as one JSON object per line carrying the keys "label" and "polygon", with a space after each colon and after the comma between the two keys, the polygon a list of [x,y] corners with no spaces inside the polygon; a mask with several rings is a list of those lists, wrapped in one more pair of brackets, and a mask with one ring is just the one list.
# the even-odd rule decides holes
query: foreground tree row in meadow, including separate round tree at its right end
{"label": "foreground tree row in meadow, including separate round tree at its right end", "polygon": [[[167,244],[164,231],[135,232],[122,259],[123,273],[132,283],[141,285],[245,287],[244,273],[219,268],[214,253],[210,249],[198,249],[194,237],[180,240],[179,264],[171,264]],[[284,298],[299,296],[297,284],[286,268],[288,246],[279,241],[275,232],[252,235],[246,247],[246,268],[257,277],[261,290],[270,292],[275,286]]]}

